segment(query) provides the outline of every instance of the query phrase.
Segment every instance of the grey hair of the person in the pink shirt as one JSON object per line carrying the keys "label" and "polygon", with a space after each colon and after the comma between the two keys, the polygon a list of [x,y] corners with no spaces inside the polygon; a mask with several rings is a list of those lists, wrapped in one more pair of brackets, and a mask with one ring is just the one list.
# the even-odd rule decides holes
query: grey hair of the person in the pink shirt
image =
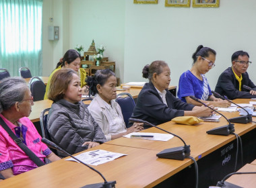
{"label": "grey hair of the person in the pink shirt", "polygon": [[0,81],[0,113],[21,102],[28,91],[26,81],[20,77],[8,77]]}

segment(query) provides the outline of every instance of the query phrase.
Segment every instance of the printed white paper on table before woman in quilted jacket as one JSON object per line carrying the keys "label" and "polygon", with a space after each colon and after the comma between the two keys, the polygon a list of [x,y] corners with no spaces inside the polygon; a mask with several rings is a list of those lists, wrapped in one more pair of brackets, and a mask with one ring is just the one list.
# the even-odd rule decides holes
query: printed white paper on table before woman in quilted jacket
{"label": "printed white paper on table before woman in quilted jacket", "polygon": [[[106,150],[93,150],[90,152],[83,152],[82,154],[79,154],[75,157],[86,164],[97,166],[98,164],[103,164],[105,162],[115,160],[116,158],[119,158],[120,156],[125,156],[125,155],[127,154],[122,154],[117,152],[108,152]],[[78,162],[74,158],[67,158],[66,160]]]}

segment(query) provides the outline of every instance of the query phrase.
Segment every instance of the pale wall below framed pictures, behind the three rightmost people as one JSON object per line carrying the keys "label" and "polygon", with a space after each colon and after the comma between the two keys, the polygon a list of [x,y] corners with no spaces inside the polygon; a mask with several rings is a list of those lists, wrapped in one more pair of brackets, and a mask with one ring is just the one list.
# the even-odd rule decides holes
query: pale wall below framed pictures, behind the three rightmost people
{"label": "pale wall below framed pictures, behind the three rightmost people", "polygon": [[215,89],[218,77],[231,64],[236,50],[245,50],[254,63],[250,77],[256,83],[256,1],[220,0],[220,7],[181,8],[125,4],[125,82],[145,81],[141,70],[154,60],[165,60],[171,71],[171,84],[191,68],[192,54],[199,44],[217,52],[216,66],[207,73]]}

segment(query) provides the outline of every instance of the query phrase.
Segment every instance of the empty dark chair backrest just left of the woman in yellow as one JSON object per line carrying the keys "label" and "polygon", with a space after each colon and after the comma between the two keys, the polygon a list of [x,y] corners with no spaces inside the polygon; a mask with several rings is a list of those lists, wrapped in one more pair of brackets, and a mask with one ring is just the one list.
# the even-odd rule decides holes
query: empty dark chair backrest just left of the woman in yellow
{"label": "empty dark chair backrest just left of the woman in yellow", "polygon": [[34,101],[43,100],[45,94],[45,85],[42,79],[39,77],[32,77],[32,79],[30,79],[29,85],[31,94],[34,97]]}

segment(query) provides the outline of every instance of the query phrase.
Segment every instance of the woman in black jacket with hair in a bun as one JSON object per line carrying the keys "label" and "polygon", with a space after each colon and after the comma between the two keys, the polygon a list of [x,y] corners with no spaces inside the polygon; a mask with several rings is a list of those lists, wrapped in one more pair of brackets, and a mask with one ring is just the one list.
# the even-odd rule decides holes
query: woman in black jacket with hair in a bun
{"label": "woman in black jacket with hair in a bun", "polygon": [[[205,107],[195,107],[174,97],[169,91],[170,68],[162,60],[144,66],[143,78],[149,79],[139,93],[132,118],[146,120],[154,125],[163,124],[172,118],[193,115],[210,116],[212,110]],[[149,128],[144,126],[144,128]]]}

